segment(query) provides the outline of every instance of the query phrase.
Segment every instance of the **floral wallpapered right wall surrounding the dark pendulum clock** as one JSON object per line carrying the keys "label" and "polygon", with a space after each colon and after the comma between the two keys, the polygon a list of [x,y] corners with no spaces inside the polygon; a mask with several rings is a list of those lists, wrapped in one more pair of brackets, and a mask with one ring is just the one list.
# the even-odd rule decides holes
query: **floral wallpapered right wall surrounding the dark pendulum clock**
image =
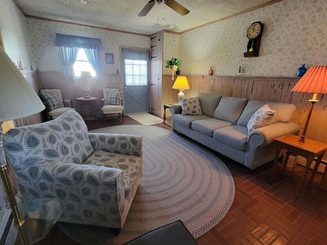
{"label": "floral wallpapered right wall surrounding the dark pendulum clock", "polygon": [[[265,25],[260,54],[244,58],[254,21]],[[292,77],[303,63],[327,65],[327,2],[284,0],[179,36],[181,74],[207,75],[213,66],[214,75],[237,76],[243,59],[245,76]]]}

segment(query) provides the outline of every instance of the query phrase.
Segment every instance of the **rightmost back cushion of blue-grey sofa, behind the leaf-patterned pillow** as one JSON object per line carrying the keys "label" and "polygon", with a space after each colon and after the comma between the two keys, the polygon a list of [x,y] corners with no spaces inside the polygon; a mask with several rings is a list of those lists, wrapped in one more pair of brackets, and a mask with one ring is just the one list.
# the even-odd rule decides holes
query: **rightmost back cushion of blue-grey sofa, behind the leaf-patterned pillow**
{"label": "rightmost back cushion of blue-grey sofa, behind the leaf-patterned pillow", "polygon": [[289,122],[293,114],[296,110],[296,106],[293,104],[288,103],[277,103],[277,102],[265,102],[265,101],[256,101],[256,100],[249,100],[244,110],[237,121],[237,125],[242,125],[244,127],[247,126],[248,121],[250,120],[251,116],[258,110],[260,107],[264,105],[268,105],[272,110],[276,111],[276,115],[272,123],[275,122]]}

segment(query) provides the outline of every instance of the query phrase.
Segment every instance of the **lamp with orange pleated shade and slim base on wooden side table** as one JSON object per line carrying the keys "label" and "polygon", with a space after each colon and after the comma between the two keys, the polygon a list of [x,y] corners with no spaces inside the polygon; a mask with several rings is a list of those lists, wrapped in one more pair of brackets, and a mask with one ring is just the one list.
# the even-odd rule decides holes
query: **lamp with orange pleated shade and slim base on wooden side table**
{"label": "lamp with orange pleated shade and slim base on wooden side table", "polygon": [[313,106],[316,102],[318,102],[316,100],[317,94],[327,94],[327,66],[311,66],[306,74],[297,82],[292,91],[301,93],[313,93],[312,99],[309,100],[311,102],[311,107],[307,117],[306,125],[303,129],[302,135],[298,140],[299,142],[305,142]]}

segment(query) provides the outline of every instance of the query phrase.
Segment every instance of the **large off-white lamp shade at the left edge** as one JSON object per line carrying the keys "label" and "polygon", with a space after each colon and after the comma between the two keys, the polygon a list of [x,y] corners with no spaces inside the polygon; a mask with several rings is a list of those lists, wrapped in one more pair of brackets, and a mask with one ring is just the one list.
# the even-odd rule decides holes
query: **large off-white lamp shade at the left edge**
{"label": "large off-white lamp shade at the left edge", "polygon": [[42,101],[0,47],[0,122],[36,114]]}

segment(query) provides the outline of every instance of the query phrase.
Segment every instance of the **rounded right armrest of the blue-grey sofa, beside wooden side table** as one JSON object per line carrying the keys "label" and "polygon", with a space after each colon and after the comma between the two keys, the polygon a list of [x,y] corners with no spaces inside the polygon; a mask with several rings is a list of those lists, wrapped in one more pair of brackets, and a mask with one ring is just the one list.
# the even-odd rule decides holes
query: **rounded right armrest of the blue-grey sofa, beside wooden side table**
{"label": "rounded right armrest of the blue-grey sofa, beside wooden side table", "polygon": [[274,141],[274,138],[287,134],[298,134],[300,127],[293,121],[289,122],[277,122],[266,127],[253,130],[248,136],[248,142],[251,141],[251,145],[265,146]]}

